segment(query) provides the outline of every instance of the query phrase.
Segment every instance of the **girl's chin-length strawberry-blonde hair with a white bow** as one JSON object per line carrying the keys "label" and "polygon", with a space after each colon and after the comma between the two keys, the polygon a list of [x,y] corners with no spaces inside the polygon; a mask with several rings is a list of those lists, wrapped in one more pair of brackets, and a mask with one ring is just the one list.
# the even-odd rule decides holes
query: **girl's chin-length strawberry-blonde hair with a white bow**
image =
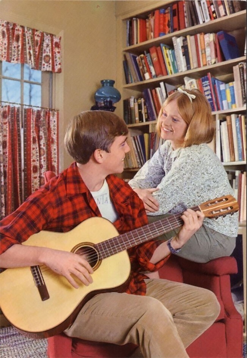
{"label": "girl's chin-length strawberry-blonde hair with a white bow", "polygon": [[159,120],[163,113],[163,107],[166,107],[171,101],[177,101],[178,112],[187,124],[187,131],[184,137],[183,147],[190,147],[193,144],[209,143],[214,136],[214,121],[212,117],[211,106],[207,98],[198,89],[186,89],[196,98],[192,99],[182,92],[174,92],[168,96],[163,103],[158,115],[156,130],[160,136]]}

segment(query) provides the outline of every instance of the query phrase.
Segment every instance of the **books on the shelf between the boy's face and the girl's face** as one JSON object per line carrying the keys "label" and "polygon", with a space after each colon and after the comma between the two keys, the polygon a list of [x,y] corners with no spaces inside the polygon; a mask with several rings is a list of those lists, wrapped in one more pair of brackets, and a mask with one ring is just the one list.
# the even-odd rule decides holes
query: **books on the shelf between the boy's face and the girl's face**
{"label": "books on the shelf between the boy's face and the girl's face", "polygon": [[164,143],[164,140],[155,132],[137,135],[130,133],[127,142],[130,151],[125,155],[124,168],[133,169],[141,168],[147,160],[152,158],[155,151]]}

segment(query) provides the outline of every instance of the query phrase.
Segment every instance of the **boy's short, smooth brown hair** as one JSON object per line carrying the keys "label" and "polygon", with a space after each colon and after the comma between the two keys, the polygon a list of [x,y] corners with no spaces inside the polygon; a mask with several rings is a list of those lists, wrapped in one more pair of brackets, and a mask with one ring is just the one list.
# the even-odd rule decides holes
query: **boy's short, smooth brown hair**
{"label": "boy's short, smooth brown hair", "polygon": [[88,163],[96,149],[109,153],[115,137],[128,134],[124,120],[108,111],[85,111],[75,116],[66,130],[64,145],[80,164]]}

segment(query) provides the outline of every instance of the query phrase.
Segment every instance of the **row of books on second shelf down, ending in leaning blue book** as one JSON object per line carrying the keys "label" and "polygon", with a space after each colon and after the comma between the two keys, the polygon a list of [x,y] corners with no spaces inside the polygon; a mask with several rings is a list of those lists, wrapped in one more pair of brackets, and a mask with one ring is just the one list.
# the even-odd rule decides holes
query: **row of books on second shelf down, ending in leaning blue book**
{"label": "row of books on second shelf down, ending in leaning blue book", "polygon": [[172,75],[240,56],[236,39],[224,31],[173,36],[172,41],[174,48],[161,43],[145,50],[144,54],[125,53],[126,83]]}

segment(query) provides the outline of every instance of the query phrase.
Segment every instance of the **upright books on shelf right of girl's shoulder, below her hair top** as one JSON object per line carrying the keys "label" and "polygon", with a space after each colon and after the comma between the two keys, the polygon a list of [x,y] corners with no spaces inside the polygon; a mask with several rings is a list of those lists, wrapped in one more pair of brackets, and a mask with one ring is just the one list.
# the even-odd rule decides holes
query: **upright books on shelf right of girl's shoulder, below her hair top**
{"label": "upright books on shelf right of girl's shoulder, below her hair top", "polygon": [[216,121],[216,155],[224,163],[246,161],[246,116],[232,113]]}

